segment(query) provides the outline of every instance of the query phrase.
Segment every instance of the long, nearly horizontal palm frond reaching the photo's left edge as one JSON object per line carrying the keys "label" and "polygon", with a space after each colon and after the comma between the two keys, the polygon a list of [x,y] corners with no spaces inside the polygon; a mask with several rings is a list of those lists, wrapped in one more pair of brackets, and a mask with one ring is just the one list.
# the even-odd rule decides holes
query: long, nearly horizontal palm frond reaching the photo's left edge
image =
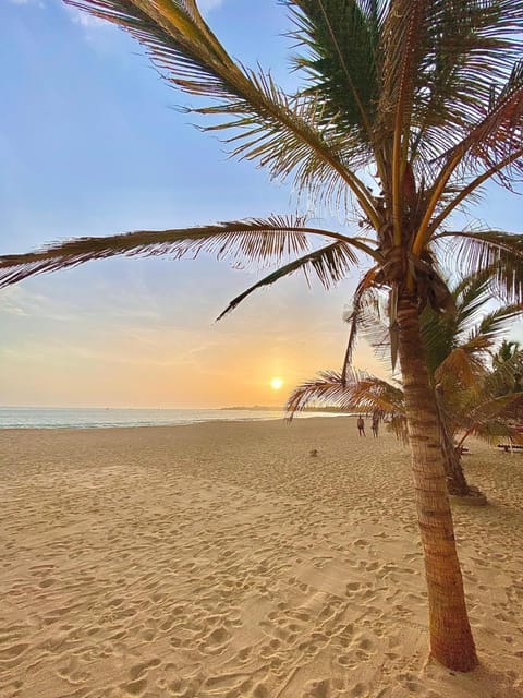
{"label": "long, nearly horizontal palm frond reaching the photo's left edge", "polygon": [[[233,265],[254,263],[260,266],[268,262],[279,263],[309,250],[309,236],[330,238],[353,246],[357,244],[351,238],[306,227],[304,222],[301,217],[271,216],[195,228],[137,230],[119,236],[66,240],[28,254],[0,257],[0,288],[36,274],[117,255],[170,254],[179,260],[207,252],[219,260],[228,258]],[[366,246],[360,242],[358,249]]]}

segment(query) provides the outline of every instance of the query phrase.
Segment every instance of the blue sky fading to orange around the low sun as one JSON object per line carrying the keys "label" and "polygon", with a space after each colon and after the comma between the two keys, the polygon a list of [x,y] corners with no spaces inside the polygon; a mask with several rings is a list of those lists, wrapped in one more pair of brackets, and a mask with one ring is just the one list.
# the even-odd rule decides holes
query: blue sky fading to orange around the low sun
{"label": "blue sky fading to orange around the low sun", "polygon": [[[234,57],[270,68],[292,88],[281,4],[199,5]],[[303,210],[291,184],[228,158],[216,137],[195,129],[179,109],[190,98],[123,32],[60,0],[0,0],[0,254],[76,236]],[[497,191],[475,215],[518,230],[520,212],[519,197]],[[313,213],[315,225],[320,215],[341,220],[337,212]],[[284,279],[216,323],[257,278],[206,255],[135,257],[8,288],[0,294],[0,405],[282,405],[297,383],[340,368],[342,313],[358,272],[332,291]],[[354,363],[387,375],[365,342]]]}

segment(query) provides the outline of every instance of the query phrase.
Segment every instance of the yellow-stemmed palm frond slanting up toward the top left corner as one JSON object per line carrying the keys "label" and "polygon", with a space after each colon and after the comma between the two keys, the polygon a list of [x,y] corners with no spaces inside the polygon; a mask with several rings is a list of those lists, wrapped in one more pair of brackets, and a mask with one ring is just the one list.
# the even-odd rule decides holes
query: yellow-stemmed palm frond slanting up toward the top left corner
{"label": "yellow-stemmed palm frond slanting up toward the top left corner", "polygon": [[64,1],[130,32],[169,83],[212,99],[212,106],[188,111],[223,120],[219,125],[202,127],[204,130],[234,130],[229,140],[235,144],[233,154],[257,160],[273,177],[287,177],[297,168],[299,185],[318,191],[325,184],[326,192],[335,196],[345,185],[366,216],[379,225],[375,203],[351,166],[352,155],[355,166],[363,161],[356,142],[346,147],[346,140],[321,125],[324,107],[314,98],[290,98],[270,74],[234,62],[194,0]]}

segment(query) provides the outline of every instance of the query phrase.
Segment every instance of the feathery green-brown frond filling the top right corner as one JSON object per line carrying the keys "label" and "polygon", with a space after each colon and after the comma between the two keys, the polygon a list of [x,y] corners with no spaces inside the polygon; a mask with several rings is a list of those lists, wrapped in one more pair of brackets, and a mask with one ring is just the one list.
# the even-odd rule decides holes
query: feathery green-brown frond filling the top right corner
{"label": "feathery green-brown frond filling the top right corner", "polygon": [[[521,57],[523,3],[435,0],[419,41],[413,156],[431,160],[457,147],[507,95],[502,85]],[[510,81],[509,81],[510,83]]]}

